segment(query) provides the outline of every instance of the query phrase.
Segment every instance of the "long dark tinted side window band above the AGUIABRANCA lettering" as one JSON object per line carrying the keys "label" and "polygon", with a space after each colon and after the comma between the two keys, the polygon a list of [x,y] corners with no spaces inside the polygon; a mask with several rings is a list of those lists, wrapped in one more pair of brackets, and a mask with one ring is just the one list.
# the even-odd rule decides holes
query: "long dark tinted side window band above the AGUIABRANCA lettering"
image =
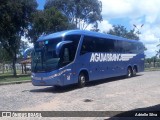
{"label": "long dark tinted side window band above the AGUIABRANCA lettering", "polygon": [[139,53],[142,52],[143,49],[143,44],[133,41],[120,41],[84,36],[81,54],[88,52]]}

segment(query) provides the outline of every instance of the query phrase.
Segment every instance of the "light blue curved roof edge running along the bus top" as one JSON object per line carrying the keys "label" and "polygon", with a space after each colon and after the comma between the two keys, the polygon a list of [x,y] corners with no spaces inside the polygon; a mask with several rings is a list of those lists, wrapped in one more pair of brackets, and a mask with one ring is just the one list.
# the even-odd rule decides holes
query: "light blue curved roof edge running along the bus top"
{"label": "light blue curved roof edge running along the bus top", "polygon": [[44,40],[49,40],[49,39],[54,39],[58,37],[64,37],[66,35],[88,35],[88,36],[93,36],[93,37],[101,37],[101,38],[108,38],[108,39],[115,39],[115,40],[125,40],[125,41],[132,41],[132,42],[139,42],[138,40],[130,40],[127,38],[123,37],[118,37],[115,35],[110,35],[110,34],[104,34],[104,33],[99,33],[99,32],[93,32],[93,31],[87,31],[87,30],[66,30],[66,31],[61,31],[61,32],[56,32],[52,33],[49,35],[41,36],[38,41],[44,41]]}

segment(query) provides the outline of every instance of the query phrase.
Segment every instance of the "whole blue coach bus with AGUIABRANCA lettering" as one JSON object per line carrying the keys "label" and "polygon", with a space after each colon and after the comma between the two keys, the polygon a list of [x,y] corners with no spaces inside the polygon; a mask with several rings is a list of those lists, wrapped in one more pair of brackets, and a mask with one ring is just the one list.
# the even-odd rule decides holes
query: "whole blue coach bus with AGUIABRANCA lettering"
{"label": "whole blue coach bus with AGUIABRANCA lettering", "polygon": [[144,46],[137,40],[84,30],[40,37],[32,50],[32,84],[64,86],[144,71]]}

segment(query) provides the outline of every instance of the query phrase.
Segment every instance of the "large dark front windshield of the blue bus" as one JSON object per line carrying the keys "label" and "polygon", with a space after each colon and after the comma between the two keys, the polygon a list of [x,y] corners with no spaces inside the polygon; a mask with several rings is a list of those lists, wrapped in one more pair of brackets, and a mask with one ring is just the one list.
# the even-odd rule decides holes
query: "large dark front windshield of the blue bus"
{"label": "large dark front windshield of the blue bus", "polygon": [[60,58],[56,55],[56,45],[62,38],[40,41],[32,52],[32,72],[49,72],[59,67]]}

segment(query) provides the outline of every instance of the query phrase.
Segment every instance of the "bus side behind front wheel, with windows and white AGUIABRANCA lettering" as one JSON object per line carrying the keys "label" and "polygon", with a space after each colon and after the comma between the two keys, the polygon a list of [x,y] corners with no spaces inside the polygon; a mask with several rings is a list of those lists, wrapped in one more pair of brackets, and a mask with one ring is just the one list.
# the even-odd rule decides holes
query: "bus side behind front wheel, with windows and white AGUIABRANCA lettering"
{"label": "bus side behind front wheel, with windows and white AGUIABRANCA lettering", "polygon": [[[136,40],[84,35],[79,68],[87,69],[89,81],[144,71],[144,46]],[[86,67],[84,67],[86,66]]]}

